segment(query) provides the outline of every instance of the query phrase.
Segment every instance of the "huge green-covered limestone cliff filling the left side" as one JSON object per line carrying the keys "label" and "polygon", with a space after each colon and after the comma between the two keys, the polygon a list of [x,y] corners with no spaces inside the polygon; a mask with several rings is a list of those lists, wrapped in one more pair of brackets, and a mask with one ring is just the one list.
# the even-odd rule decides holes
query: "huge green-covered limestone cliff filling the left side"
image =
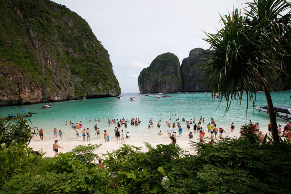
{"label": "huge green-covered limestone cliff filling the left side", "polygon": [[120,94],[88,23],[48,0],[0,0],[0,106]]}

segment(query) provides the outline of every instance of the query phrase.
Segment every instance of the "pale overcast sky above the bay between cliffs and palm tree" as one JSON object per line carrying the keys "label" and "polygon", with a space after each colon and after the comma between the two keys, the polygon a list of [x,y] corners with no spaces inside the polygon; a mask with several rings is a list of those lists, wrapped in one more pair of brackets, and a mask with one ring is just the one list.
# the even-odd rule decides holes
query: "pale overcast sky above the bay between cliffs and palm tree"
{"label": "pale overcast sky above the bay between cliffs and palm tree", "polygon": [[122,93],[139,92],[137,79],[156,56],[182,60],[209,49],[204,32],[221,29],[220,16],[245,0],[54,0],[84,18],[105,49]]}

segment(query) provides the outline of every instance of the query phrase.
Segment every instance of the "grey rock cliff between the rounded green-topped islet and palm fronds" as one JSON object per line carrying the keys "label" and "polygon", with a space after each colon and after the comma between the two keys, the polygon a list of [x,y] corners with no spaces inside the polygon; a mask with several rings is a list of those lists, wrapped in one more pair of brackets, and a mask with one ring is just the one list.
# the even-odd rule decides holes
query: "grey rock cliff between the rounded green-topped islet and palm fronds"
{"label": "grey rock cliff between the rounded green-topped islet and palm fronds", "polygon": [[[211,52],[201,48],[192,49],[189,53],[189,57],[183,59],[181,69],[182,78],[182,91],[206,91],[208,83],[203,82],[204,72],[203,69],[195,66],[199,63],[205,63],[209,57],[207,54],[201,54],[202,52]],[[204,59],[203,59],[204,58]],[[209,90],[212,88],[209,87]]]}

